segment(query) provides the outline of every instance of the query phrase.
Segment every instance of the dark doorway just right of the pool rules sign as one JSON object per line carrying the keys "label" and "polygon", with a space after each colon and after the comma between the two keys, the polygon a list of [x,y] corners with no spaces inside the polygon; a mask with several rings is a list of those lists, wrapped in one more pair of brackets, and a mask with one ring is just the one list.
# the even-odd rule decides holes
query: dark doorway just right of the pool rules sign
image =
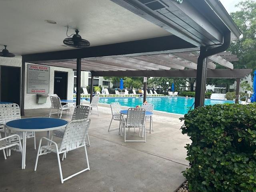
{"label": "dark doorway just right of the pool rules sign", "polygon": [[54,71],[54,94],[60,99],[67,99],[68,72]]}

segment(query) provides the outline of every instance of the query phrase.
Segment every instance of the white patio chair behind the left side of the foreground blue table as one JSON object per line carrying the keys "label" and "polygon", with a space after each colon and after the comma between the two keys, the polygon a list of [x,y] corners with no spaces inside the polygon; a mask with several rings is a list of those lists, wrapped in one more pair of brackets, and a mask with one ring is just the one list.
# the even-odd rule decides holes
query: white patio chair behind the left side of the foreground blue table
{"label": "white patio chair behind the left side of the foreground blue table", "polygon": [[[11,120],[20,119],[20,106],[16,103],[0,104],[0,134],[4,132],[4,137],[11,134],[17,134],[20,139],[23,139],[22,132],[10,131],[6,128],[5,124]],[[1,128],[2,127],[2,128]],[[35,132],[27,132],[27,138],[34,138],[34,149],[36,150],[36,134]],[[18,137],[10,137],[10,142],[18,142]],[[7,156],[10,156],[10,150]]]}

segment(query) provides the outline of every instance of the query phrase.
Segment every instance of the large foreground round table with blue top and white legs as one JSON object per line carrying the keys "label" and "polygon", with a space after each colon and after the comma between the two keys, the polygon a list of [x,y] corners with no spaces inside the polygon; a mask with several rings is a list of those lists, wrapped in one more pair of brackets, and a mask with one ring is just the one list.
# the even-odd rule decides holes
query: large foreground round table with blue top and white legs
{"label": "large foreground round table with blue top and white legs", "polygon": [[[22,169],[25,169],[26,167],[27,132],[47,131],[47,138],[49,138],[50,131],[66,127],[66,124],[68,124],[66,120],[56,118],[23,118],[12,120],[6,123],[6,128],[9,130],[23,132]],[[49,145],[49,142],[47,144]]]}

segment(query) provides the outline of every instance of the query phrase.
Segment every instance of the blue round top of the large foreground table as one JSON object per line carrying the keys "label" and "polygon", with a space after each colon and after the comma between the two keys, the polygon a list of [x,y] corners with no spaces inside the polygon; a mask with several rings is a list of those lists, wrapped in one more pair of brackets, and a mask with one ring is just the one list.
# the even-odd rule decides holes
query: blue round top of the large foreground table
{"label": "blue round top of the large foreground table", "polygon": [[68,124],[66,120],[56,118],[24,118],[6,123],[6,126],[19,129],[46,129]]}

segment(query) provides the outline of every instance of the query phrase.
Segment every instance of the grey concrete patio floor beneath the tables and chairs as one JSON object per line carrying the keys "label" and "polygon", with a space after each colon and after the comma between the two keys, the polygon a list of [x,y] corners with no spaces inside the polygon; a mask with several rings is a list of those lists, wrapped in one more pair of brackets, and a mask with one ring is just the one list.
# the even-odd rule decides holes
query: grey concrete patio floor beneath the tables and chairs
{"label": "grey concrete patio floor beneath the tables and chairs", "polygon": [[[154,132],[146,132],[146,143],[124,143],[118,130],[108,132],[110,107],[101,105],[99,111],[100,116],[90,115],[90,171],[61,184],[56,154],[52,153],[39,157],[34,172],[37,150],[33,149],[33,139],[28,139],[25,170],[21,170],[19,152],[12,152],[7,160],[0,152],[0,192],[174,192],[185,181],[181,174],[188,167],[184,146],[190,140],[181,133],[179,115],[155,112]],[[25,114],[48,117],[48,109],[26,110]],[[68,115],[63,119],[70,120]],[[114,121],[112,128],[118,124]],[[138,138],[138,130],[129,134]],[[36,133],[37,146],[45,135]],[[86,167],[84,150],[70,151],[61,164],[64,177],[82,170]]]}

